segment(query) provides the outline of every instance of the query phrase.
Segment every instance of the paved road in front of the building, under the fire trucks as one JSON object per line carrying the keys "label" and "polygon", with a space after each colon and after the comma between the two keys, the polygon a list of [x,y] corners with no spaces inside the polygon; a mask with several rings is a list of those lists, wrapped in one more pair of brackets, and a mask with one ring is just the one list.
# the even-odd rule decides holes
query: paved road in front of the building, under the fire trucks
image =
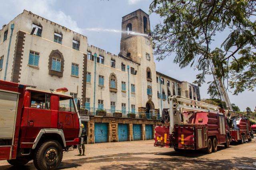
{"label": "paved road in front of the building, under the fire trucks", "polygon": [[[228,149],[218,145],[218,151],[212,154],[175,152],[171,148],[154,147],[153,143],[154,140],[89,144],[85,156],[76,156],[78,150],[64,153],[58,170],[256,169],[256,139],[242,145],[231,143]],[[0,161],[0,169],[16,168]],[[30,161],[19,169],[34,170],[35,167]]]}

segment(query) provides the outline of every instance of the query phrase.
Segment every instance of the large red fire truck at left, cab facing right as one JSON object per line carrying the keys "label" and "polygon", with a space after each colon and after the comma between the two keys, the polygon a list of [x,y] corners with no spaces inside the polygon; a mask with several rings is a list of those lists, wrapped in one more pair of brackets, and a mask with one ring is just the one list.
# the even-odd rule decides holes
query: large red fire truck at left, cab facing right
{"label": "large red fire truck at left, cab facing right", "polygon": [[[82,143],[81,121],[72,96],[0,80],[0,160],[38,170],[60,165],[63,150]],[[64,91],[67,91],[64,88]]]}

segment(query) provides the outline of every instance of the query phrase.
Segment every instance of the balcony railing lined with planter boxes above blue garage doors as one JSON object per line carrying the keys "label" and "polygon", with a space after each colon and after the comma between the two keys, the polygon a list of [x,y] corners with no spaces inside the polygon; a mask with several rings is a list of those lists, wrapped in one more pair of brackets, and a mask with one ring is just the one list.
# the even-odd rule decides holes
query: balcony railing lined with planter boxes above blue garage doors
{"label": "balcony railing lined with planter boxes above blue garage doors", "polygon": [[[85,109],[88,109],[88,110],[85,111]],[[100,110],[106,111],[106,114],[100,112]],[[133,112],[133,111],[113,110],[113,109],[99,109],[99,108],[84,107],[84,106],[81,106],[81,109],[80,109],[80,112],[79,112],[80,115],[103,115],[103,116],[108,116],[108,117],[121,117],[120,113],[122,113],[122,117],[124,117],[124,118],[160,120],[160,115],[159,114],[140,113],[140,112]]]}

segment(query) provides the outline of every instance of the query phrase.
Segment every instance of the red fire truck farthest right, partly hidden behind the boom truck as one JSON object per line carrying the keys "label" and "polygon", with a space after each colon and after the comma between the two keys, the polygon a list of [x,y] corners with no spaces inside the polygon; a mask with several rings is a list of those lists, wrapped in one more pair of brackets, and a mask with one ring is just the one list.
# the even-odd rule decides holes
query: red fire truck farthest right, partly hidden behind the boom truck
{"label": "red fire truck farthest right, partly hidden behind the boom truck", "polygon": [[240,144],[252,141],[252,127],[250,121],[242,113],[226,110],[228,125],[230,127],[231,141],[238,141]]}

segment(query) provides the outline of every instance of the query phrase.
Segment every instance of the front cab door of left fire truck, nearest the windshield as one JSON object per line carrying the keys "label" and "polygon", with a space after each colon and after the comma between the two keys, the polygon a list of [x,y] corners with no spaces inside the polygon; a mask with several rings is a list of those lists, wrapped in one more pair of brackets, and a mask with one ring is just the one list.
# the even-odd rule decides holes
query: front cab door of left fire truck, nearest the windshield
{"label": "front cab door of left fire truck, nearest the windshield", "polygon": [[74,140],[76,136],[75,109],[72,98],[59,97],[58,129],[63,129],[66,141]]}

